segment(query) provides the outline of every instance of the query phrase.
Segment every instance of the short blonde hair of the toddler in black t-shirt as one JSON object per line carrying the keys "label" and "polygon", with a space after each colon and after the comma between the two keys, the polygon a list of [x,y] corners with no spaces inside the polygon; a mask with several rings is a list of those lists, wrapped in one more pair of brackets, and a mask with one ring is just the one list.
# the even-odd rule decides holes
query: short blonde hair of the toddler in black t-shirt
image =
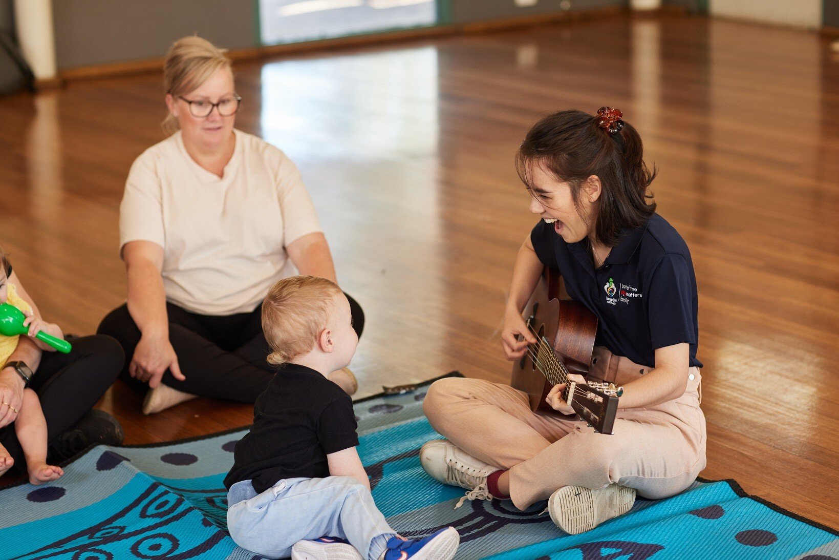
{"label": "short blonde hair of the toddler in black t-shirt", "polygon": [[285,364],[315,348],[342,294],[335,282],[318,276],[289,276],[268,290],[263,300],[263,332],[271,353],[268,364]]}

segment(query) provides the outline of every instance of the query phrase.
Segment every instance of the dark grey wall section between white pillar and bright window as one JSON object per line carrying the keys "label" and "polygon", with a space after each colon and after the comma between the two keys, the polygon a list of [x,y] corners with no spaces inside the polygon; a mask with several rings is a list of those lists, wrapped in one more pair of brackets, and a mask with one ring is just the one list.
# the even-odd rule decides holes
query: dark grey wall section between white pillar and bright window
{"label": "dark grey wall section between white pillar and bright window", "polygon": [[251,0],[53,0],[53,18],[59,69],[157,58],[190,34],[227,49],[258,42]]}

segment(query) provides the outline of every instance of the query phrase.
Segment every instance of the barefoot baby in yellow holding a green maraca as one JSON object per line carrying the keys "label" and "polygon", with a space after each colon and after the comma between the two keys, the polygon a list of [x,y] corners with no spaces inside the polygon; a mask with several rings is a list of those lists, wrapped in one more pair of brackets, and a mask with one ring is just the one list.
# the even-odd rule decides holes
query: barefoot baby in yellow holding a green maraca
{"label": "barefoot baby in yellow holding a green maraca", "polygon": [[[31,337],[39,348],[45,351],[55,351],[53,344],[62,352],[70,351],[70,344],[66,343],[58,325],[44,322],[36,309],[33,309],[23,297],[18,295],[17,286],[10,280],[11,266],[6,254],[0,248],[0,364],[6,364],[9,356],[18,347],[21,334]],[[44,343],[49,340],[50,344]],[[42,484],[58,479],[64,471],[60,467],[46,463],[47,457],[47,423],[38,395],[34,390],[23,390],[23,401],[17,407],[14,403],[3,400],[0,402],[0,420],[12,417],[14,430],[18,436],[23,456],[26,458],[26,468],[29,471],[29,482]],[[12,468],[13,458],[6,447],[0,444],[0,476]]]}

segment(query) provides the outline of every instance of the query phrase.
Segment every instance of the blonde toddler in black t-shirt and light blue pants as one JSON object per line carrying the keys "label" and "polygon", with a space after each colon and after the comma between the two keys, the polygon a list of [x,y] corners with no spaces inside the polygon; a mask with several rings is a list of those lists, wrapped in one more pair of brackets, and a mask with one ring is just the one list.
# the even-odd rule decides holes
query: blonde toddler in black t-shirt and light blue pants
{"label": "blonde toddler in black t-shirt and light blue pants", "polygon": [[279,369],[224,479],[233,540],[268,558],[454,557],[453,527],[406,540],[373,503],[352,400],[326,379],[349,365],[358,343],[341,289],[315,276],[280,280],[263,301],[262,321],[268,362]]}

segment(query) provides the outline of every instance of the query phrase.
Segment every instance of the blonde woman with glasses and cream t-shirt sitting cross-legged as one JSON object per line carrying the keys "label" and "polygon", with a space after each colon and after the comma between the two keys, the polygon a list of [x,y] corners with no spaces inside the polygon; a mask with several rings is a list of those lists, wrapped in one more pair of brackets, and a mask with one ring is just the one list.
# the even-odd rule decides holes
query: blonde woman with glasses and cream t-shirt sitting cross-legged
{"label": "blonde woman with glasses and cream t-shirt sitting cross-legged", "polygon": [[[164,63],[169,138],[134,161],[120,207],[128,301],[99,326],[122,343],[122,378],[149,391],[143,412],[195,395],[253,402],[274,371],[261,323],[268,288],[293,274],[336,281],[300,171],[233,128],[242,101],[231,62],[185,37]],[[361,334],[364,316],[349,298]],[[348,393],[348,369],[330,379]]]}

